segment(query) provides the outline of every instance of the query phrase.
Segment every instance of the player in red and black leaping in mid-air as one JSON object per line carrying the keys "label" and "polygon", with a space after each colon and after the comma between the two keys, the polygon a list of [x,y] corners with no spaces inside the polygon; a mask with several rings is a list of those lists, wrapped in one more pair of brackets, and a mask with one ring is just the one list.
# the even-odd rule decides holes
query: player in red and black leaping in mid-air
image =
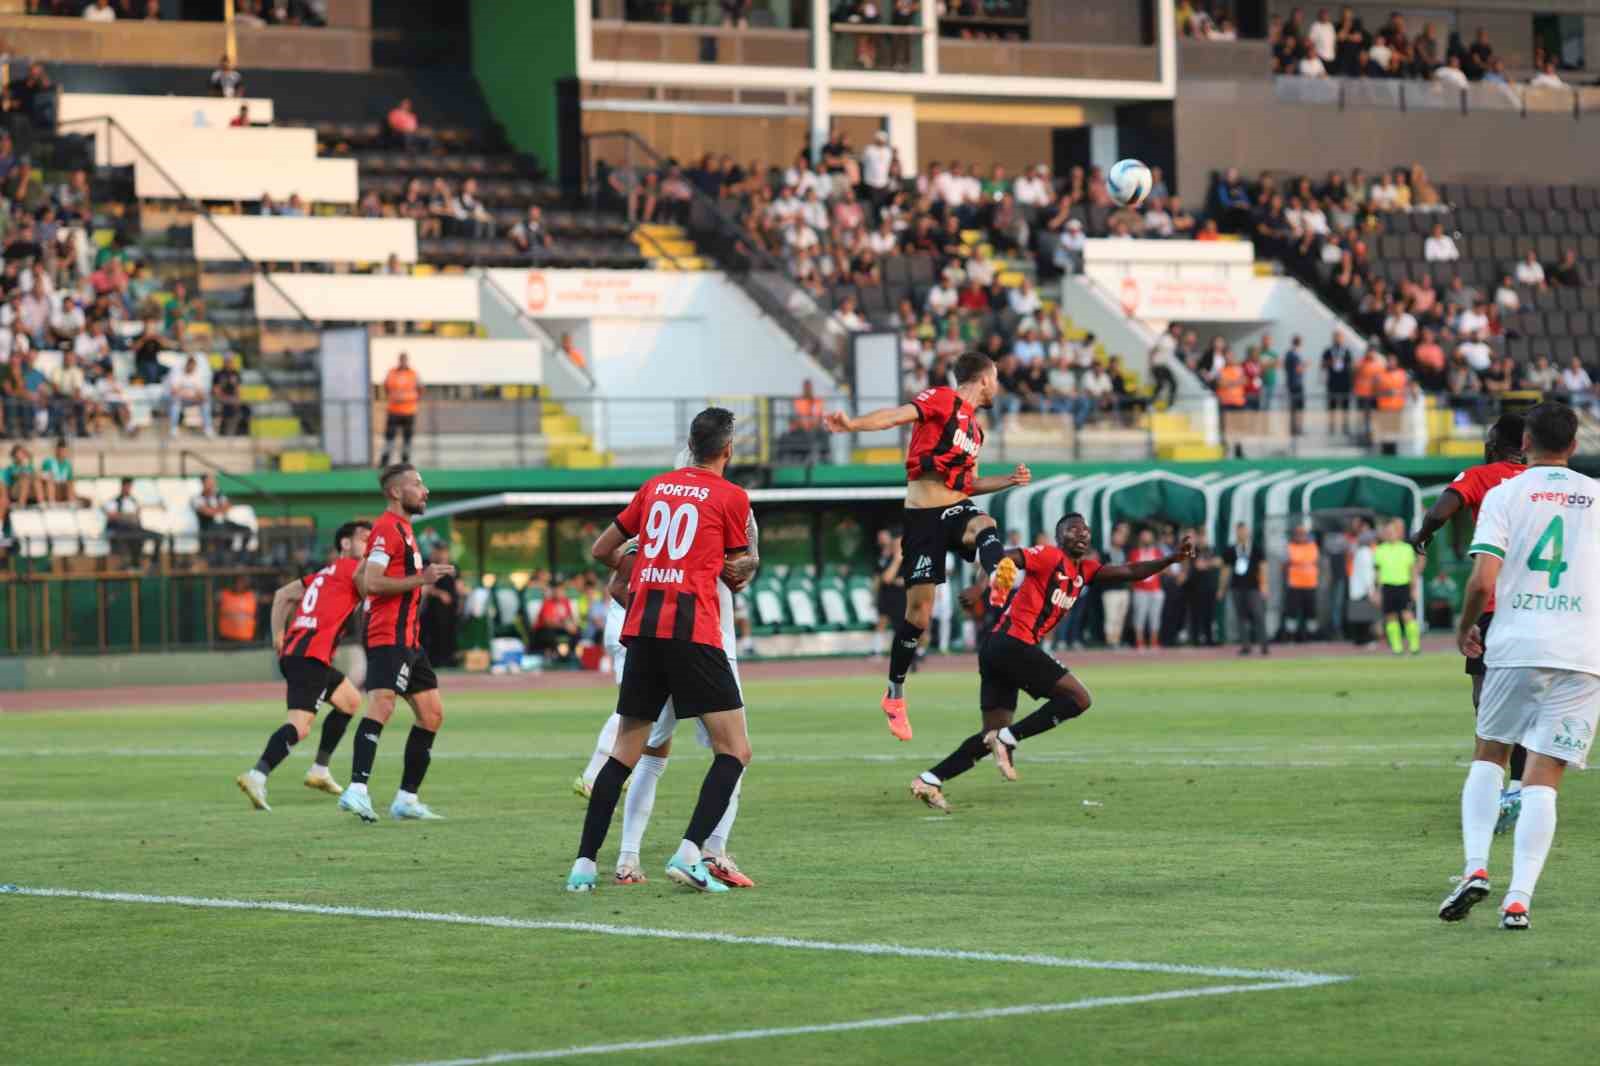
{"label": "player in red and black leaping in mid-air", "polygon": [[960,552],[989,573],[990,587],[1003,597],[1016,584],[1016,562],[1005,554],[995,520],[973,504],[1011,485],[1027,485],[1032,475],[1018,463],[1010,474],[978,477],[978,453],[984,429],[978,411],[994,403],[1000,373],[981,352],[955,360],[955,387],[939,386],[918,392],[910,403],[885,407],[858,418],[830,411],[827,427],[835,434],[878,432],[915,423],[906,448],[906,520],[902,573],[906,576],[906,618],[894,627],[890,645],[890,687],[883,714],[890,731],[910,739],[906,715],[906,674],[917,658],[922,634],[933,621],[933,594],[944,584],[944,557]]}

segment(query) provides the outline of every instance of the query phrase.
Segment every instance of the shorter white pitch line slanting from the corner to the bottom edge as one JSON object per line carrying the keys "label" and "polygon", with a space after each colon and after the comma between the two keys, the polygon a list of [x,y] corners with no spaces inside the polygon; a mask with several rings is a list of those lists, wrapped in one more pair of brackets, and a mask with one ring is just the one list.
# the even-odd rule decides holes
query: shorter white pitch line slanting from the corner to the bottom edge
{"label": "shorter white pitch line slanting from the corner to the bottom edge", "polygon": [[448,1058],[411,1066],[498,1066],[499,1063],[538,1063],[552,1058],[579,1058],[584,1055],[614,1055],[619,1052],[654,1052],[674,1047],[702,1044],[726,1044],[731,1040],[765,1040],[786,1036],[814,1036],[827,1032],[856,1032],[861,1029],[898,1029],[901,1026],[925,1026],[938,1021],[989,1021],[994,1018],[1019,1018],[1026,1015],[1056,1015],[1067,1010],[1094,1010],[1096,1007],[1128,1007],[1134,1004],[1160,1004],[1198,996],[1234,996],[1238,992],[1270,992],[1288,988],[1310,988],[1301,981],[1274,981],[1272,984],[1216,984],[1211,988],[1181,988],[1170,992],[1144,996],[1099,996],[1075,999],[1066,1004],[1022,1004],[1016,1007],[987,1007],[984,1010],[944,1010],[933,1015],[898,1015],[894,1018],[862,1018],[859,1021],[834,1021],[814,1026],[787,1026],[782,1029],[734,1029],[733,1032],[704,1032],[699,1036],[662,1037],[659,1040],[632,1040],[627,1044],[587,1044],[582,1047],[558,1047],[542,1052],[499,1052],[482,1058]]}

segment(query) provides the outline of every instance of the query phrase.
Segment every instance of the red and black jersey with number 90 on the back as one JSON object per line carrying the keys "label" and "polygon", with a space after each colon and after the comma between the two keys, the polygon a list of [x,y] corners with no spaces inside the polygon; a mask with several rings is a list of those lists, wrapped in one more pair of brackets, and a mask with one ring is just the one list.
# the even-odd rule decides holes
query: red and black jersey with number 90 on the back
{"label": "red and black jersey with number 90 on the back", "polygon": [[750,546],[750,498],[718,474],[686,466],[645,482],[616,517],[638,536],[622,643],[634,637],[722,648],[717,579],[728,552]]}

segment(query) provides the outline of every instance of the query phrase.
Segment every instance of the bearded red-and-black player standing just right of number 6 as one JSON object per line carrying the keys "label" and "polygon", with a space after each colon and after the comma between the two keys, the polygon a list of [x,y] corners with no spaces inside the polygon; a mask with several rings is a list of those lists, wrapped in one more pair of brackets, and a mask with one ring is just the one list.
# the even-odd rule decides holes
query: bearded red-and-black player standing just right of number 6
{"label": "bearded red-and-black player standing just right of number 6", "polygon": [[416,797],[427,775],[434,736],[445,720],[438,699],[438,679],[422,650],[418,616],[422,587],[456,573],[450,563],[422,565],[422,551],[411,533],[411,517],[427,511],[427,485],[410,463],[384,467],[378,477],[386,507],[373,523],[366,562],[355,584],[366,597],[366,717],[355,730],[350,759],[350,786],[339,795],[339,810],[362,821],[378,821],[366,783],[378,759],[378,738],[405,698],[416,723],[405,741],[405,770],[400,791],[389,805],[390,818],[438,818]]}

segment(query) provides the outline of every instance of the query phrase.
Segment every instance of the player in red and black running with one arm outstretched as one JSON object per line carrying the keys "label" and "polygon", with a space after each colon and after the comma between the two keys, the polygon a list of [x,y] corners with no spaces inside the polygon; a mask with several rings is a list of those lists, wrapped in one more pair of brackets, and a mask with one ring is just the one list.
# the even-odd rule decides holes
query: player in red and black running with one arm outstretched
{"label": "player in red and black running with one arm outstretched", "polygon": [[[950,810],[944,784],[992,754],[1000,776],[1016,781],[1011,751],[1029,736],[1053,730],[1090,709],[1090,690],[1067,667],[1045,651],[1043,640],[1066,616],[1091,584],[1126,584],[1162,573],[1166,567],[1194,555],[1187,539],[1166,559],[1142,563],[1102,567],[1090,559],[1090,527],[1082,514],[1067,514],[1056,522],[1056,543],[1040,547],[1013,547],[1006,552],[1022,571],[1022,581],[978,653],[982,683],[978,703],[984,728],[973,733],[950,755],[910,783],[910,794],[934,810]],[[982,595],[968,591],[968,599]],[[1026,691],[1045,704],[1016,725],[1016,698]]]}

